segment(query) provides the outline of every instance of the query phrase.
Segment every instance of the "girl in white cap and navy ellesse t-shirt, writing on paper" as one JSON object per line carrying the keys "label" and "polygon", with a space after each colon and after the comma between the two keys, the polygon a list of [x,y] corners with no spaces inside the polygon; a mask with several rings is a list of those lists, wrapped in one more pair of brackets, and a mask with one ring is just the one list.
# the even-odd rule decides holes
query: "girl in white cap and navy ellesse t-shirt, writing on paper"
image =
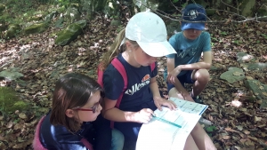
{"label": "girl in white cap and navy ellesse t-shirt, writing on paper", "polygon": [[[125,135],[125,140],[136,141],[142,123],[150,122],[157,108],[176,108],[171,100],[161,98],[156,81],[157,58],[176,53],[166,37],[166,25],[158,15],[139,12],[129,20],[103,57],[105,99],[102,114],[114,122],[114,128]],[[127,81],[110,63],[115,58],[125,68]],[[152,68],[154,63],[155,68]],[[198,137],[203,139],[202,135]],[[190,150],[197,149],[195,143],[201,142],[195,142],[192,136],[187,139],[186,146]]]}

